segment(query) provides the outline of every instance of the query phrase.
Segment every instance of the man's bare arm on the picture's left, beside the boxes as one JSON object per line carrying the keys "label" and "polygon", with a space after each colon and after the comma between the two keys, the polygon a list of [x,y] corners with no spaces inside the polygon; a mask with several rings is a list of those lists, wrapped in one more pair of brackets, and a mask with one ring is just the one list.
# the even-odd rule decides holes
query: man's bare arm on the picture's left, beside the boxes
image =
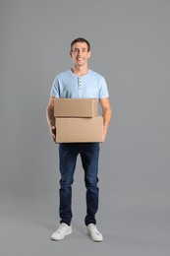
{"label": "man's bare arm on the picture's left, beside the boxes", "polygon": [[56,127],[55,127],[55,117],[54,117],[54,98],[50,96],[49,103],[46,107],[46,119],[48,122],[49,130],[53,141],[56,142]]}

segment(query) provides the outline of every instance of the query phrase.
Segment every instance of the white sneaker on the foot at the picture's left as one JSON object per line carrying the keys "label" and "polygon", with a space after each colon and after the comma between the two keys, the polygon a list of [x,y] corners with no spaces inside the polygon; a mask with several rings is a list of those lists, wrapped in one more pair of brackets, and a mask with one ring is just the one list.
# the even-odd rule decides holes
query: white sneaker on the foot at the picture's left
{"label": "white sneaker on the foot at the picture's left", "polygon": [[60,241],[65,235],[72,233],[72,226],[68,224],[60,224],[58,229],[52,233],[51,240]]}

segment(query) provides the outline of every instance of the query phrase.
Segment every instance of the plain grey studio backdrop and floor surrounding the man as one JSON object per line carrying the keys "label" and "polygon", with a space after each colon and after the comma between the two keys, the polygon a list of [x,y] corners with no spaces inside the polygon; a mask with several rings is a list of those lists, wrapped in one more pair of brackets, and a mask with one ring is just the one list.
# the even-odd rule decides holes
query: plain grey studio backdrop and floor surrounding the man
{"label": "plain grey studio backdrop and floor surrounding the man", "polygon": [[[0,1],[0,254],[165,256],[170,251],[170,1]],[[55,75],[71,67],[70,42],[91,43],[113,112],[101,145],[98,228],[85,236],[78,160],[72,235],[58,219],[58,146],[45,117]]]}

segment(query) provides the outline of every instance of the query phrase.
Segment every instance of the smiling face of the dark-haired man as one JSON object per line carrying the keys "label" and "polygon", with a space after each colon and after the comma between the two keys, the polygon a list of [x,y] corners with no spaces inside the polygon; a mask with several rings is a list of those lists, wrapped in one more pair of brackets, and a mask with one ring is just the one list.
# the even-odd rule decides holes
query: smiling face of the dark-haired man
{"label": "smiling face of the dark-haired man", "polygon": [[90,57],[90,51],[87,51],[85,42],[76,42],[70,52],[73,62],[76,66],[85,66],[87,59]]}

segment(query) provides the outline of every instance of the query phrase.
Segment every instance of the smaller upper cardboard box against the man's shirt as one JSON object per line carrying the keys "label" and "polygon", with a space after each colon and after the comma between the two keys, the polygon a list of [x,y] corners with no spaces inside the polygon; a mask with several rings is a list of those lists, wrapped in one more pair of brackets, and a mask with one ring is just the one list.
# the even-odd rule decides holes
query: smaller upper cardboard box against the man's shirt
{"label": "smaller upper cardboard box against the man's shirt", "polygon": [[98,115],[97,98],[55,98],[55,117],[94,117]]}

